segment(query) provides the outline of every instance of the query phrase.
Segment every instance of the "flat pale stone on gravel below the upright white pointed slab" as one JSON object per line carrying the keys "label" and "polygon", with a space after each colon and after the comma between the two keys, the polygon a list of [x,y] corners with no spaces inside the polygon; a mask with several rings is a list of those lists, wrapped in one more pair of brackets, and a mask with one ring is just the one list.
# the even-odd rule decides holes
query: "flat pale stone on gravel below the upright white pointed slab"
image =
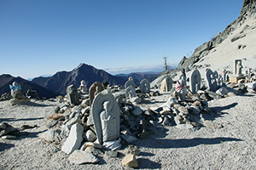
{"label": "flat pale stone on gravel below the upright white pointed slab", "polygon": [[93,154],[83,150],[74,150],[73,153],[68,157],[68,160],[74,164],[97,163],[100,161]]}

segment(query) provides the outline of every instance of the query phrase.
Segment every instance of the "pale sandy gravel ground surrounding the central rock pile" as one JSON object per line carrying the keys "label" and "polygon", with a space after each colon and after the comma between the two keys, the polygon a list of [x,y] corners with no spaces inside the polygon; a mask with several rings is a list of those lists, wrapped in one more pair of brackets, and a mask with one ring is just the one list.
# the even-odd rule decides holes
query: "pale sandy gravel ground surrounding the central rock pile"
{"label": "pale sandy gravel ground surrounding the central rock pile", "polygon": [[[139,106],[158,108],[169,93],[148,98]],[[256,96],[243,94],[208,102],[210,111],[201,114],[201,126],[189,129],[157,124],[154,134],[137,139],[141,150],[139,169],[255,169],[256,168]],[[18,128],[17,139],[0,138],[0,169],[130,169],[121,163],[125,146],[117,157],[97,156],[96,164],[75,165],[60,144],[38,138],[47,130],[47,117],[62,104],[32,100],[20,105],[0,102],[0,122]],[[32,128],[21,129],[22,125]],[[33,127],[37,125],[37,127]]]}

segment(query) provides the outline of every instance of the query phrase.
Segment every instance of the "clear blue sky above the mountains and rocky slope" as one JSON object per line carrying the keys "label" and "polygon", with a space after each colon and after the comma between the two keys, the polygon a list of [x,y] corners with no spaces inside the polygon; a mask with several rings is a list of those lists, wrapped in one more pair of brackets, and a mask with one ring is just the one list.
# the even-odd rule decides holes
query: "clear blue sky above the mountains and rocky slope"
{"label": "clear blue sky above the mountains and rocky slope", "polygon": [[[0,0],[0,75],[151,70],[208,42],[239,16],[242,0]],[[126,71],[125,71],[126,70]]]}

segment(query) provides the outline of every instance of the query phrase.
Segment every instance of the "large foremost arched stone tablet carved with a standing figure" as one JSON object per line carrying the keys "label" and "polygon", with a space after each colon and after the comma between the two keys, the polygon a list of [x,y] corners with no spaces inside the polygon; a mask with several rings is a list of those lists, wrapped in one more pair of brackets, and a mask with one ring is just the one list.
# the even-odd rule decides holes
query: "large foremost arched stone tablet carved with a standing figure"
{"label": "large foremost arched stone tablet carved with a standing figure", "polygon": [[91,115],[99,144],[119,139],[120,109],[108,89],[96,95],[91,106]]}

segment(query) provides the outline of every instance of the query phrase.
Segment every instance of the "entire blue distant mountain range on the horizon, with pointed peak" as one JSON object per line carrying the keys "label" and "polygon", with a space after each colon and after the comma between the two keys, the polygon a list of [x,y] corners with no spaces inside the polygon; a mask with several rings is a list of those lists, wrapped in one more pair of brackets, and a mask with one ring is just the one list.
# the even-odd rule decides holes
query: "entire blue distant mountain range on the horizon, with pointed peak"
{"label": "entire blue distant mountain range on the horizon, with pointed peak", "polygon": [[66,89],[71,84],[79,88],[82,80],[86,82],[87,88],[89,89],[93,82],[108,82],[111,85],[125,85],[128,78],[133,77],[134,82],[138,86],[144,78],[152,82],[158,77],[158,73],[159,72],[137,72],[113,76],[107,71],[98,70],[92,65],[82,63],[73,69],[73,71],[58,71],[53,76],[35,77],[31,81],[27,81],[21,77],[2,75],[0,77],[0,94],[9,93],[9,84],[18,82],[22,88],[22,94],[26,94],[27,89],[33,89],[38,92],[40,97],[54,98],[59,94],[66,95]]}

